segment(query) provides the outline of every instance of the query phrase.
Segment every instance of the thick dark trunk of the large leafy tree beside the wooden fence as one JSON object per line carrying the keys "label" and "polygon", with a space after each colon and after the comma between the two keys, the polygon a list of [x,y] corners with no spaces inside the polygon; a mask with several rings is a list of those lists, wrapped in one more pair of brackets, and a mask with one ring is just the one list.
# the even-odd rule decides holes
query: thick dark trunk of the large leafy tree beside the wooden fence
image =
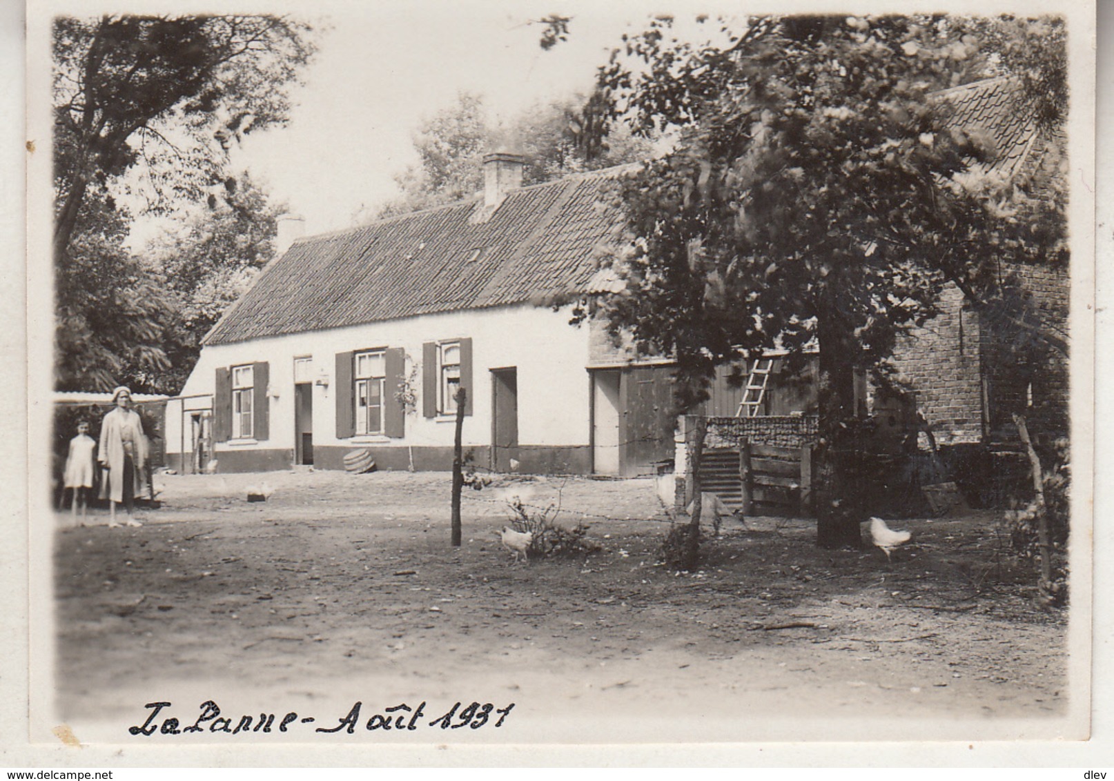
{"label": "thick dark trunk of the large leafy tree beside the wooden fence", "polygon": [[[831,297],[831,293],[829,293]],[[813,497],[817,545],[862,547],[858,442],[847,423],[856,416],[854,363],[859,352],[852,333],[832,316],[832,305],[818,323],[820,346],[820,441],[817,443]]]}

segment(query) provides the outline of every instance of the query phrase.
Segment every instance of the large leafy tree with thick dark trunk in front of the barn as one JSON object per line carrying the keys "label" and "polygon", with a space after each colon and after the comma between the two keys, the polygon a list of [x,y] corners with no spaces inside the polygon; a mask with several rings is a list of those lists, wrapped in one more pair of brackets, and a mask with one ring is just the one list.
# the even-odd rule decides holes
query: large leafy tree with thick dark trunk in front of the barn
{"label": "large leafy tree with thick dark trunk in front of the barn", "polygon": [[690,43],[658,18],[599,69],[586,149],[617,121],[676,137],[620,185],[631,241],[613,266],[626,287],[602,307],[641,350],[676,358],[683,407],[719,363],[819,346],[821,546],[861,545],[856,370],[885,379],[947,283],[1024,326],[998,305],[998,261],[1066,258],[1062,201],[1035,175],[981,165],[987,140],[946,129],[935,97],[1022,59],[1026,84],[1062,84],[1055,36],[1022,57],[1038,27],[1059,30],[1062,49],[1047,20],[769,17]]}

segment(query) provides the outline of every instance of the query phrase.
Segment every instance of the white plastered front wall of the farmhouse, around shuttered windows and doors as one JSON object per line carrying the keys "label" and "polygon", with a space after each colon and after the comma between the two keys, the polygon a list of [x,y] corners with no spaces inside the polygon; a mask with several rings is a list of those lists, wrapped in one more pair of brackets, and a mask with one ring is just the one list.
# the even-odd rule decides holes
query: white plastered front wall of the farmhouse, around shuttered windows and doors
{"label": "white plastered front wall of the farmhouse, around shuttered windows and doors", "polygon": [[[202,350],[182,397],[212,394],[218,368],[266,361],[270,364],[270,437],[229,448],[294,448],[294,359],[312,357],[313,443],[319,446],[394,445],[448,447],[453,418],[422,417],[422,370],[413,384],[417,409],[407,414],[405,437],[336,439],[335,355],[375,348],[403,348],[405,377],[421,363],[424,342],[472,340],[472,414],[465,418],[466,447],[491,441],[491,369],[517,368],[518,441],[520,445],[587,446],[589,443],[588,329],[569,325],[568,310],[519,305],[405,318],[352,328],[217,344]],[[320,381],[328,384],[321,384]],[[170,416],[168,416],[170,417]],[[180,410],[178,411],[180,418]],[[168,426],[172,421],[167,421]],[[179,422],[174,423],[175,427]],[[169,429],[168,429],[169,431]],[[177,428],[175,428],[177,431]],[[168,437],[169,452],[179,452]]]}

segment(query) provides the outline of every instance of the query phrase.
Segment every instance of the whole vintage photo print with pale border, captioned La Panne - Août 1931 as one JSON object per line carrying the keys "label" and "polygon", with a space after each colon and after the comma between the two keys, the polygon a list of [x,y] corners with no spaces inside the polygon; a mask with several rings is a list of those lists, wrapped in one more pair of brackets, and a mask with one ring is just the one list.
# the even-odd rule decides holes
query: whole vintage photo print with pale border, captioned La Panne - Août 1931
{"label": "whole vintage photo print with pale border, captioned La Panne - Ao\u00fbt 1931", "polygon": [[1093,6],[221,4],[29,11],[32,740],[1087,738]]}

